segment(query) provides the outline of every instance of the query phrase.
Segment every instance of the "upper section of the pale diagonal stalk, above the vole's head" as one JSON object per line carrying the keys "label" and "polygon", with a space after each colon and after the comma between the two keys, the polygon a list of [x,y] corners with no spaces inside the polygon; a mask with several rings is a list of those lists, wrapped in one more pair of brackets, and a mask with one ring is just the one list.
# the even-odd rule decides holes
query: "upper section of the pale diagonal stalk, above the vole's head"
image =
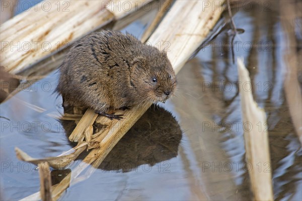
{"label": "upper section of the pale diagonal stalk, above the vole's head", "polygon": [[[177,1],[148,42],[167,52],[177,73],[214,27],[222,7],[204,7],[208,1]],[[215,1],[222,5],[224,1]],[[214,3],[213,3],[214,4]],[[180,17],[184,16],[184,18]],[[182,19],[182,21],[178,21]]]}

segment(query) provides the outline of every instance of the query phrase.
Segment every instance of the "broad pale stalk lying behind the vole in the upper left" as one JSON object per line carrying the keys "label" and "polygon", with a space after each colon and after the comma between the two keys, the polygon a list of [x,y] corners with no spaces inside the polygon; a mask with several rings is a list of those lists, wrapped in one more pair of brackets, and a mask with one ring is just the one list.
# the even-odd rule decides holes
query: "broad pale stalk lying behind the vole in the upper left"
{"label": "broad pale stalk lying behind the vole in the upper left", "polygon": [[[46,1],[0,26],[1,65],[18,73],[68,43],[135,12],[153,0]],[[47,9],[46,5],[47,4]]]}

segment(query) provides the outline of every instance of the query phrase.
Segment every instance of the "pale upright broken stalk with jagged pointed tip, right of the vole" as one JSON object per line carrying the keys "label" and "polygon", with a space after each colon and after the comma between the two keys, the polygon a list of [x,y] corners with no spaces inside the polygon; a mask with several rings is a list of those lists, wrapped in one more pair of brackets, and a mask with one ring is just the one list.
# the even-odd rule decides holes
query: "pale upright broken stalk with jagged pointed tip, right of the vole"
{"label": "pale upright broken stalk with jagged pointed tip, right of the vole", "polygon": [[[244,129],[244,140],[246,160],[251,165],[249,175],[252,191],[256,200],[273,200],[268,133],[263,129],[267,124],[266,115],[255,103],[252,91],[244,90],[243,84],[250,83],[251,79],[240,58],[237,58],[237,67],[243,125],[249,127]],[[259,124],[260,128],[257,127]]]}

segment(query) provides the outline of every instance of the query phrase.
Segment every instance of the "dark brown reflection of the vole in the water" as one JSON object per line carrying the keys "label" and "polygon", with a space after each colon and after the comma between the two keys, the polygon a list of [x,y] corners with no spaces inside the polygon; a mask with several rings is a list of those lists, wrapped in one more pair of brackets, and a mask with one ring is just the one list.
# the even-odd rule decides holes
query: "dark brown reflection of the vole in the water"
{"label": "dark brown reflection of the vole in the water", "polygon": [[[75,127],[72,121],[62,121],[62,125],[66,135]],[[181,128],[171,113],[153,105],[115,145],[99,168],[128,172],[143,164],[153,166],[176,157],[181,138]],[[82,153],[79,158],[86,154]]]}

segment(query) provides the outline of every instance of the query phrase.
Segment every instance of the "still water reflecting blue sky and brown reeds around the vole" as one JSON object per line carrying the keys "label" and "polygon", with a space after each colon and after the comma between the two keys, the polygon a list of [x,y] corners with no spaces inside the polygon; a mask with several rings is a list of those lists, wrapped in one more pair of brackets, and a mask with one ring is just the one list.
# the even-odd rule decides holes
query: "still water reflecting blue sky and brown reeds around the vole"
{"label": "still water reflecting blue sky and brown reeds around the vole", "polygon": [[[254,99],[266,112],[271,153],[271,163],[259,164],[253,168],[260,168],[260,171],[272,168],[275,199],[301,200],[301,145],[291,122],[283,88],[286,65],[283,54],[287,44],[281,25],[282,8],[278,1],[251,5],[252,7],[246,5],[245,8],[233,11],[237,28],[244,30],[244,33],[234,39],[234,53],[236,57],[244,57],[252,80]],[[154,14],[149,14],[122,31],[128,31],[139,38],[153,17]],[[301,22],[301,18],[294,22],[297,44],[291,48],[297,50],[301,49]],[[175,117],[182,130],[180,134],[179,127],[173,124],[170,133],[164,134],[169,135],[169,138],[166,136],[164,139],[168,141],[170,136],[182,135],[179,147],[177,141],[172,151],[165,142],[161,142],[162,147],[156,147],[161,143],[153,138],[145,138],[149,142],[145,143],[146,147],[150,150],[137,149],[140,150],[139,153],[135,153],[136,148],[131,146],[128,147],[134,152],[124,153],[127,146],[121,145],[111,157],[122,153],[123,164],[127,163],[127,158],[140,158],[141,162],[137,167],[127,171],[116,170],[112,164],[107,169],[100,168],[87,180],[70,186],[60,199],[252,199],[249,167],[245,162],[240,96],[236,85],[238,73],[230,49],[232,37],[230,29],[222,29],[211,44],[189,60],[177,75],[179,89],[176,96],[160,105],[172,114],[166,114],[167,118],[164,119],[172,119],[163,125],[170,125]],[[301,63],[299,66],[301,67]],[[4,117],[0,118],[1,196],[5,200],[23,198],[37,192],[40,186],[35,166],[19,161],[15,147],[35,158],[57,156],[72,147],[61,122],[48,116],[63,112],[61,97],[56,98],[52,94],[57,78],[58,73],[53,71],[30,88],[22,88],[14,97],[0,105],[1,116]],[[45,111],[37,112],[28,107],[28,104]],[[151,108],[149,113],[152,111],[155,109]],[[163,118],[150,115],[145,120],[158,125],[159,131],[162,131]],[[146,122],[142,121],[141,126],[148,124]],[[255,127],[266,129],[263,124]],[[145,132],[144,135],[152,134]],[[135,144],[135,140],[131,139],[125,143]],[[136,142],[136,145],[140,144],[139,141]],[[163,155],[155,153],[158,149],[163,150]],[[166,160],[165,150],[174,153],[170,154],[172,158]],[[154,153],[154,156],[150,156],[150,153]],[[148,159],[145,159],[146,155]],[[133,161],[135,160],[127,164],[135,163]],[[74,162],[70,168],[79,162]]]}

